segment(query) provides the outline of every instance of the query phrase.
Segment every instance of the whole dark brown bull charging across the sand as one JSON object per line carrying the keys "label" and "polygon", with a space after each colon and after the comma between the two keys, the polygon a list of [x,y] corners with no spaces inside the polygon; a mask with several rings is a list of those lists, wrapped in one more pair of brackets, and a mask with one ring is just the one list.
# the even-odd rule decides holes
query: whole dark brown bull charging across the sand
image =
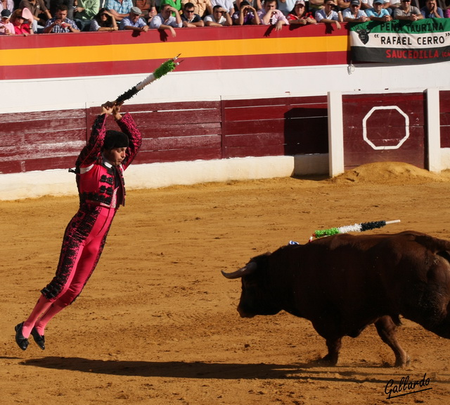
{"label": "whole dark brown bull charging across the sand", "polygon": [[399,316],[450,338],[450,242],[419,232],[335,235],[262,254],[226,278],[242,278],[238,312],[243,318],[287,311],[311,320],[338,362],[342,337],[357,337],[375,323],[395,354]]}

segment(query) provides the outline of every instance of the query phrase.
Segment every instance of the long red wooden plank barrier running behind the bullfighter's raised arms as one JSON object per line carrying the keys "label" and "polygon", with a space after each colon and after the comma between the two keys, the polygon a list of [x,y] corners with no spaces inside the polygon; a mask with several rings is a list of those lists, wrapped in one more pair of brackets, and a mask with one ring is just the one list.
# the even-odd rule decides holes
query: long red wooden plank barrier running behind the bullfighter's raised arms
{"label": "long red wooden plank barrier running behind the bullfighter's raised arms", "polygon": [[[99,111],[0,114],[0,173],[73,167]],[[136,104],[124,111],[143,134],[136,163],[328,152],[326,96]]]}

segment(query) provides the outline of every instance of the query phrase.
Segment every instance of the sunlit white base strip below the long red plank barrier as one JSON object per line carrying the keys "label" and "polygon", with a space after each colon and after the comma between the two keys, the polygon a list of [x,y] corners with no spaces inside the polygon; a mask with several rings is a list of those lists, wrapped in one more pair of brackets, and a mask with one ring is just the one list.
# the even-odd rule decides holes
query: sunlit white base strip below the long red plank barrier
{"label": "sunlit white base strip below the long red plank barrier", "polygon": [[[201,182],[226,182],[294,174],[293,156],[231,158],[212,161],[131,165],[125,172],[127,189],[147,189]],[[311,166],[311,163],[310,163]],[[311,166],[314,172],[314,167]],[[0,175],[0,200],[77,194],[75,175],[68,170],[44,170]]]}

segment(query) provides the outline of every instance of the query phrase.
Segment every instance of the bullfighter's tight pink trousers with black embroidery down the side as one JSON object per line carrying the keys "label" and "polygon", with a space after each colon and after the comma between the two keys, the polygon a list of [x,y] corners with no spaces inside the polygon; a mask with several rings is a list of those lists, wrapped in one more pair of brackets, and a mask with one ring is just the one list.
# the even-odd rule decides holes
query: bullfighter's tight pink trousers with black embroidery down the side
{"label": "bullfighter's tight pink trousers with black embroidery down the side", "polygon": [[117,209],[82,204],[65,229],[56,275],[41,289],[49,301],[72,304],[94,272]]}

